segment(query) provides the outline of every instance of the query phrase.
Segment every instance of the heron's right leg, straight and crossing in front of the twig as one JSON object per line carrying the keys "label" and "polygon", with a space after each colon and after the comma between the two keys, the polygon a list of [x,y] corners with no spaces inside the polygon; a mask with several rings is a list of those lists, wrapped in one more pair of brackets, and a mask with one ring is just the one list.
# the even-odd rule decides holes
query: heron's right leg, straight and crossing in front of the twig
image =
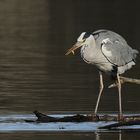
{"label": "heron's right leg, straight and crossing in front of the twig", "polygon": [[122,114],[122,99],[121,99],[121,81],[119,74],[117,74],[117,81],[118,81],[118,92],[119,92],[119,115],[118,115],[118,120],[123,119],[123,114]]}

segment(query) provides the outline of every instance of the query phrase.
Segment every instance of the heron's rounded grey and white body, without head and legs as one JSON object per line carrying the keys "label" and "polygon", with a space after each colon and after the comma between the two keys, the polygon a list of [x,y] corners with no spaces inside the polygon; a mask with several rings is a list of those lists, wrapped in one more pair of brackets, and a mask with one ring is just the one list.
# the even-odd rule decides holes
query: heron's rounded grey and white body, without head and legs
{"label": "heron's rounded grey and white body, without head and legs", "polygon": [[124,73],[135,65],[137,51],[132,49],[123,37],[115,32],[99,30],[92,33],[96,46],[89,45],[81,48],[84,61],[97,66],[109,74]]}

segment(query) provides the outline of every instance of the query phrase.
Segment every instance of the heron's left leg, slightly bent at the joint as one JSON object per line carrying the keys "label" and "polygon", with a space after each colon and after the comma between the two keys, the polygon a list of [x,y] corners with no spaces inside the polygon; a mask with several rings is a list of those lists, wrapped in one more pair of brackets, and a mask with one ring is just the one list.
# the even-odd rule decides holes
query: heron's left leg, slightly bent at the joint
{"label": "heron's left leg, slightly bent at the joint", "polygon": [[100,91],[99,91],[98,99],[97,99],[96,106],[95,106],[95,111],[94,111],[94,115],[95,116],[97,114],[97,110],[98,110],[98,106],[99,106],[101,94],[102,94],[102,91],[103,91],[103,88],[104,88],[103,75],[102,75],[102,72],[101,71],[99,72],[99,76],[100,76]]}

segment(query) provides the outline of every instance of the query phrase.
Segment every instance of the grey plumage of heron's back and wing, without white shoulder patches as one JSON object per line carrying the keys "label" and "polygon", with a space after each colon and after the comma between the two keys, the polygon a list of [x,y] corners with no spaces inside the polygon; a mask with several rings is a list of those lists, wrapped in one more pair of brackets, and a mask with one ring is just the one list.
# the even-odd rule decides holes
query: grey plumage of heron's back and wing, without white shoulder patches
{"label": "grey plumage of heron's back and wing, without white shoulder patches", "polygon": [[[109,38],[110,42],[101,44],[106,38]],[[105,47],[106,50],[111,51],[112,56],[106,56],[103,51],[102,53],[111,63],[117,66],[123,66],[135,60],[138,53],[137,50],[132,49],[127,44],[122,36],[108,30],[100,30],[96,43],[101,46],[101,50],[103,49],[102,47]]]}

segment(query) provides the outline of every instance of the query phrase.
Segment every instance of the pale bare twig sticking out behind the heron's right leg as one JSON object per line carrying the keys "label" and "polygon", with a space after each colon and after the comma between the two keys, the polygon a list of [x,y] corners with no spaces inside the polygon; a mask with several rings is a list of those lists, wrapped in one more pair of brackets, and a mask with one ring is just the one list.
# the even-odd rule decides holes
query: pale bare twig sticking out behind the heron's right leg
{"label": "pale bare twig sticking out behind the heron's right leg", "polygon": [[[120,79],[121,79],[121,84],[124,84],[124,83],[140,84],[140,79],[134,79],[134,78],[128,78],[128,77],[122,77],[122,76],[120,76]],[[116,86],[117,86],[117,83],[113,83],[110,86],[108,86],[108,88],[113,88]]]}

